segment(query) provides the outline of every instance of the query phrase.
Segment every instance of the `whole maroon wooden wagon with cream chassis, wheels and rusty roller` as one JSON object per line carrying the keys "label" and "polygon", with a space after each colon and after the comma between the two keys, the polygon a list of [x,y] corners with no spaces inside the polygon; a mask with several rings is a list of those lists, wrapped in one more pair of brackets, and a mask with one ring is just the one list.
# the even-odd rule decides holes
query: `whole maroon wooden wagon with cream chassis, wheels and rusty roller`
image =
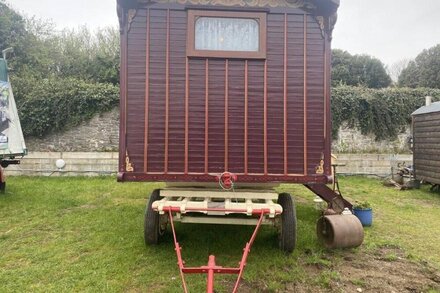
{"label": "whole maroon wooden wagon with cream chassis, wheels and rusty roller", "polygon": [[167,183],[147,205],[147,243],[157,243],[173,220],[275,223],[281,249],[291,252],[295,207],[274,191],[280,183],[304,184],[328,203],[333,215],[318,222],[328,246],[362,242],[357,219],[341,215],[351,204],[326,186],[333,180],[330,43],[338,6],[118,0],[118,179]]}

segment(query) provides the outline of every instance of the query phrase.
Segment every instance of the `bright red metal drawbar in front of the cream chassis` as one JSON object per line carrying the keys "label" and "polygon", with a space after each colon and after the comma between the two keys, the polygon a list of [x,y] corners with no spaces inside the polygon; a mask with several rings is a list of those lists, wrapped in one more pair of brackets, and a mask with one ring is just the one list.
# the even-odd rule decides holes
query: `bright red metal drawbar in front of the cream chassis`
{"label": "bright red metal drawbar in front of the cream chassis", "polygon": [[[182,259],[182,247],[179,245],[179,242],[177,242],[176,237],[176,231],[174,229],[174,222],[173,222],[173,211],[180,211],[179,208],[176,207],[164,207],[164,211],[168,212],[170,223],[171,223],[171,230],[173,231],[173,238],[174,238],[174,246],[176,250],[177,255],[177,265],[179,266],[180,270],[180,277],[182,278],[182,285],[183,290],[185,293],[188,292],[188,288],[186,287],[185,282],[185,274],[207,274],[207,284],[206,284],[206,292],[213,293],[214,292],[214,274],[236,274],[238,275],[237,281],[235,282],[234,290],[232,292],[237,292],[238,286],[240,285],[241,276],[243,275],[244,268],[246,266],[246,260],[249,255],[249,252],[251,251],[252,244],[255,241],[255,238],[257,237],[258,230],[260,229],[261,223],[263,222],[263,218],[265,215],[270,213],[269,209],[260,209],[253,212],[253,215],[260,215],[257,225],[255,226],[255,230],[252,233],[252,237],[249,240],[249,242],[246,243],[246,246],[243,249],[243,256],[241,257],[240,266],[238,268],[224,268],[222,266],[218,266],[215,263],[215,256],[210,255],[208,259],[208,265],[201,266],[201,267],[185,267],[185,262]],[[211,209],[208,209],[210,211]],[[215,211],[218,211],[219,209],[215,209]],[[226,211],[226,210],[225,210]]]}

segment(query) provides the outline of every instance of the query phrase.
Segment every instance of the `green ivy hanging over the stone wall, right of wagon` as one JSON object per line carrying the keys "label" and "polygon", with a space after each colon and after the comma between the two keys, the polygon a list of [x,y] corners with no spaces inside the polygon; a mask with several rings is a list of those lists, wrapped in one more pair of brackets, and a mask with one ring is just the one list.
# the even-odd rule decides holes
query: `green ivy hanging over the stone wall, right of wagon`
{"label": "green ivy hanging over the stone wall, right of wagon", "polygon": [[425,97],[440,100],[439,89],[340,86],[332,90],[333,137],[343,122],[377,140],[394,139],[411,122],[411,113],[425,104]]}

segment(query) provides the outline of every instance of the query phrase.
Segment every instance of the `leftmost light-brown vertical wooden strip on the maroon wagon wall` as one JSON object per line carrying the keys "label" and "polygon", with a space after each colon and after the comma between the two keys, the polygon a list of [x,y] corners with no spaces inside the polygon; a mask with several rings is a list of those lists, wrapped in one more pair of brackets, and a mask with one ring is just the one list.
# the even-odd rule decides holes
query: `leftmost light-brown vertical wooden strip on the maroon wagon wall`
{"label": "leftmost light-brown vertical wooden strip on the maroon wagon wall", "polygon": [[145,142],[144,142],[144,172],[148,172],[148,108],[149,108],[149,97],[150,97],[150,9],[147,9],[147,35],[146,35],[146,54],[145,54]]}

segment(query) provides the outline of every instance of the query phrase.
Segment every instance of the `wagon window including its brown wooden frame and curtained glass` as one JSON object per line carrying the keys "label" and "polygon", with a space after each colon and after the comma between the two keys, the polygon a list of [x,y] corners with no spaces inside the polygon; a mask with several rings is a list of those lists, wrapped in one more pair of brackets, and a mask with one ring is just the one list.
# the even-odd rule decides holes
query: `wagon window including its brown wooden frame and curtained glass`
{"label": "wagon window including its brown wooden frame and curtained glass", "polygon": [[225,11],[188,12],[188,56],[265,58],[266,15]]}

